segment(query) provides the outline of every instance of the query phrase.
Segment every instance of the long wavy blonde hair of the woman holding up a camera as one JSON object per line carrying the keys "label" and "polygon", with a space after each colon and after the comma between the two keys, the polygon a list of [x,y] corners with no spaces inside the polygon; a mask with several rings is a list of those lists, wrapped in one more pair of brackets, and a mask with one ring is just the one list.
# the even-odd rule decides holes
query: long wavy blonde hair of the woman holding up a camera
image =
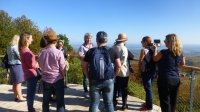
{"label": "long wavy blonde hair of the woman holding up a camera", "polygon": [[182,43],[176,34],[168,34],[165,41],[169,43],[168,49],[174,56],[180,56],[182,53]]}

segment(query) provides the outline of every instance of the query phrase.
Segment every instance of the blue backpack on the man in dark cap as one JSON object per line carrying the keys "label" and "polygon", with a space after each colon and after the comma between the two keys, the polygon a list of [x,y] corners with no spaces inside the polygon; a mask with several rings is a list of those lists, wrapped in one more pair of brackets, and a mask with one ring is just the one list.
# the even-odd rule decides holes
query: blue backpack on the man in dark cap
{"label": "blue backpack on the man in dark cap", "polygon": [[89,79],[108,80],[114,78],[114,67],[106,47],[93,48],[89,64]]}

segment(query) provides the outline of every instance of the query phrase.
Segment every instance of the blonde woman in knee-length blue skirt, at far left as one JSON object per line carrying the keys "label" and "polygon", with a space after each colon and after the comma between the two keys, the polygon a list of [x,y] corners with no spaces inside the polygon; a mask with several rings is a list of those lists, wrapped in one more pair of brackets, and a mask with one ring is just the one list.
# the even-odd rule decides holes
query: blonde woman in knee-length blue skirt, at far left
{"label": "blonde woman in knee-length blue skirt, at far left", "polygon": [[22,96],[21,83],[24,81],[24,73],[18,51],[19,35],[15,35],[7,48],[8,64],[10,65],[10,79],[13,83],[14,101],[25,101]]}

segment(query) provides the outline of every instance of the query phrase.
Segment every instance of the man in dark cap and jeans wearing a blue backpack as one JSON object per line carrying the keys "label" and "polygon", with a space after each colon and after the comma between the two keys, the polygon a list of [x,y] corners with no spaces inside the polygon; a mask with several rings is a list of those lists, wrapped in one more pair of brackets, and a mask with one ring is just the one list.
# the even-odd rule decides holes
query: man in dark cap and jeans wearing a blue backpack
{"label": "man in dark cap and jeans wearing a blue backpack", "polygon": [[111,51],[106,47],[106,32],[99,31],[96,35],[96,42],[98,47],[86,53],[83,65],[84,73],[89,79],[89,112],[97,112],[101,95],[105,111],[114,112],[112,98],[114,77],[119,73],[121,66],[119,55],[111,59]]}

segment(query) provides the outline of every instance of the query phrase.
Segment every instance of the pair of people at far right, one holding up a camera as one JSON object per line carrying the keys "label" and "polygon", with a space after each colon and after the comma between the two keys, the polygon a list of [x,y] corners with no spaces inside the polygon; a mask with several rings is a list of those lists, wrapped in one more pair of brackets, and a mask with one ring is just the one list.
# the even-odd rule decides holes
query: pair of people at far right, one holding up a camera
{"label": "pair of people at far right, one holding up a camera", "polygon": [[175,112],[178,88],[180,85],[179,66],[185,65],[182,43],[176,34],[168,34],[164,40],[167,49],[160,52],[157,45],[152,44],[151,37],[143,37],[139,57],[145,103],[141,110],[152,110],[152,80],[157,78],[158,94],[162,112]]}

